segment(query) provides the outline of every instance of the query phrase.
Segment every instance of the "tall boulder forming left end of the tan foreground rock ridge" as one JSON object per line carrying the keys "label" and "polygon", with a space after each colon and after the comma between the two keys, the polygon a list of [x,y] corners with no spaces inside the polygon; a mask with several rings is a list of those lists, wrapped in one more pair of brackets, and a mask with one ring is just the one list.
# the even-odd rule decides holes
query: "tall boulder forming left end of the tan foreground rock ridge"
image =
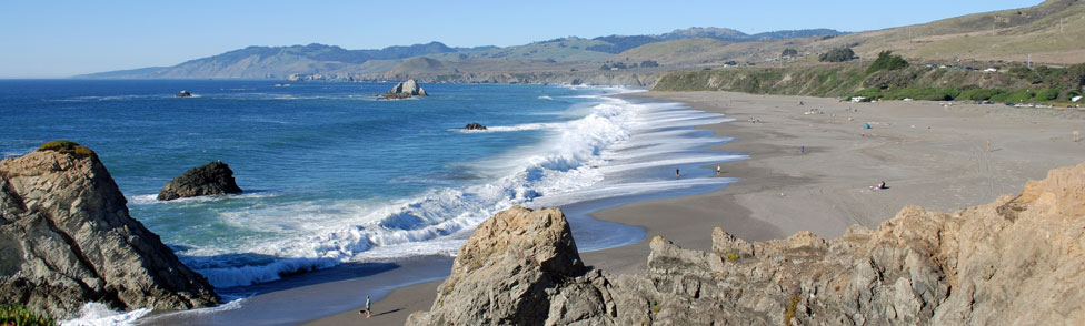
{"label": "tall boulder forming left end of the tan foreground rock ridge", "polygon": [[561,211],[516,206],[475,230],[431,312],[411,315],[408,324],[538,324],[549,314],[551,289],[584,272]]}

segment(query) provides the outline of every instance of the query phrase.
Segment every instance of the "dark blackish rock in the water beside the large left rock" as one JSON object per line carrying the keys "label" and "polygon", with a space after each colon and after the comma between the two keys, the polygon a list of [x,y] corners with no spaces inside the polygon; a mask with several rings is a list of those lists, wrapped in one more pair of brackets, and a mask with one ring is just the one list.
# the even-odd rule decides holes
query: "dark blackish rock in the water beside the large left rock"
{"label": "dark blackish rock in the water beside the large left rock", "polygon": [[158,200],[172,201],[183,197],[239,193],[241,193],[241,189],[233,180],[233,170],[230,170],[230,165],[215,161],[189,170],[181,176],[166,183],[162,191],[158,193]]}

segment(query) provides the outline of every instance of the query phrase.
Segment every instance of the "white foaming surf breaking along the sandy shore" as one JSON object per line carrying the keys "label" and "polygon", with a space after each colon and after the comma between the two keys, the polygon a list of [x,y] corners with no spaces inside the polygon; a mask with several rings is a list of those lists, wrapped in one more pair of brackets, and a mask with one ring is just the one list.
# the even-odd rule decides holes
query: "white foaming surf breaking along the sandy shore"
{"label": "white foaming surf breaking along the sandy shore", "polygon": [[[488,132],[544,130],[548,134],[548,140],[537,145],[478,162],[479,171],[492,173],[488,177],[491,182],[432,189],[414,198],[380,205],[339,201],[221,213],[222,221],[231,226],[288,235],[239,242],[233,246],[185,248],[179,254],[217,287],[263,283],[283,274],[351,261],[451,254],[475,226],[512,205],[560,205],[694,186],[721,186],[731,181],[603,182],[607,173],[744,157],[693,151],[718,143],[718,139],[693,141],[684,139],[689,131],[656,130],[693,125],[698,120],[701,123],[727,120],[718,114],[683,110],[667,103],[594,99],[601,103],[581,119],[490,128]],[[644,133],[635,133],[637,130]],[[680,141],[668,142],[675,140]],[[623,150],[613,150],[619,147]],[[679,153],[663,155],[668,151]],[[131,200],[146,203],[152,198],[145,195]],[[258,216],[281,218],[252,218]]]}

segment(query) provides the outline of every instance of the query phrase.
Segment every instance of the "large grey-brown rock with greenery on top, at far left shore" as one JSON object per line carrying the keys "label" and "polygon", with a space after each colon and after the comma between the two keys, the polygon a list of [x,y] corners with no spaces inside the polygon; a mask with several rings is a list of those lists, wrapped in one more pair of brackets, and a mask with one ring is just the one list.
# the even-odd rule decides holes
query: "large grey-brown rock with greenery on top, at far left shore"
{"label": "large grey-brown rock with greenery on top, at far left shore", "polygon": [[59,317],[87,302],[115,309],[217,304],[207,279],[126,204],[98,156],[76,143],[0,161],[0,302]]}

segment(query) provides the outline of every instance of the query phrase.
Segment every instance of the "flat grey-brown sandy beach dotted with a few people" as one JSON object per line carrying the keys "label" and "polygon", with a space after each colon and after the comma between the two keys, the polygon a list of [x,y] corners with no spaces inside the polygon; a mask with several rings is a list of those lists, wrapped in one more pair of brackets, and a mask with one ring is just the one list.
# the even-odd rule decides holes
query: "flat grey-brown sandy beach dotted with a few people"
{"label": "flat grey-brown sandy beach dotted with a few people", "polygon": [[[718,176],[740,179],[723,190],[593,214],[647,231],[639,243],[581,254],[587,265],[610,273],[643,273],[647,240],[656,235],[696,249],[710,248],[716,226],[749,241],[804,230],[833,238],[849,225],[877,227],[906,205],[953,211],[988,203],[1049,169],[1085,159],[1085,145],[1073,134],[1085,126],[1085,112],[1066,109],[726,92],[628,96],[735,118],[699,128],[735,139],[711,150],[750,159],[720,165]],[[872,189],[882,181],[888,189]],[[437,284],[392,291],[375,302],[371,319],[350,310],[310,325],[402,325],[410,313],[429,309]]]}

